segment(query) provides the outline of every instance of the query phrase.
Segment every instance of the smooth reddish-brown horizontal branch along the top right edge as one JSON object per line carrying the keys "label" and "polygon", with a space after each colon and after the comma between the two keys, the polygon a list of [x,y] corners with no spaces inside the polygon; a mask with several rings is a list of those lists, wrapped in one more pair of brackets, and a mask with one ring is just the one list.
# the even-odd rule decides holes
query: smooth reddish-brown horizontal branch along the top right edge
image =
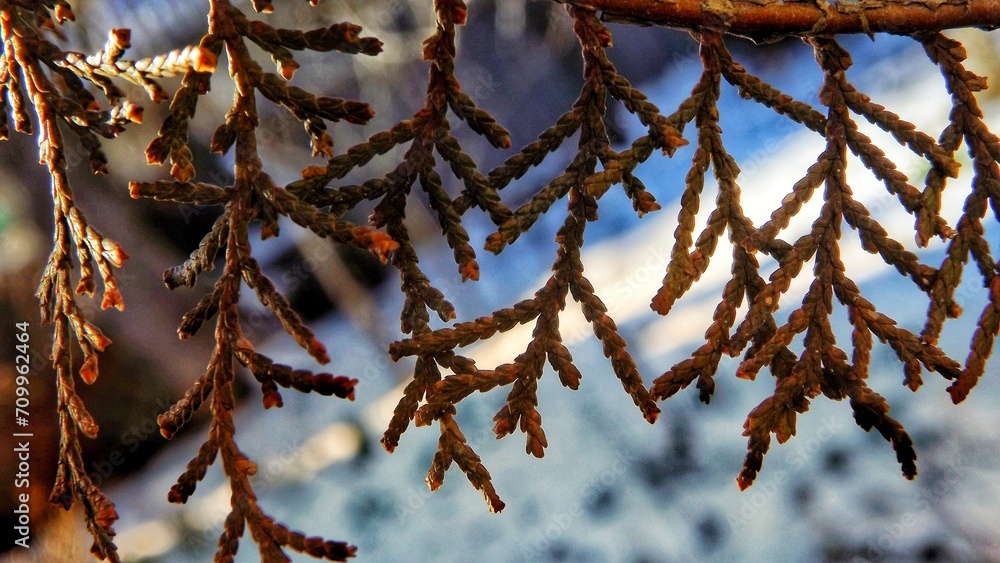
{"label": "smooth reddish-brown horizontal branch along the top right edge", "polygon": [[1000,27],[1000,0],[555,0],[607,21],[716,30],[755,40],[786,35],[917,33]]}

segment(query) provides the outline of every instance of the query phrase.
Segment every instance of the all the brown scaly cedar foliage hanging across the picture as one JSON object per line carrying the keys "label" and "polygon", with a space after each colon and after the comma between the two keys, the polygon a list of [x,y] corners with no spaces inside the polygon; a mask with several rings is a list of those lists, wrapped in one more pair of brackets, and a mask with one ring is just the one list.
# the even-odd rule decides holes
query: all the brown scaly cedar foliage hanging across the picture
{"label": "all the brown scaly cedar foliage hanging across the picture", "polygon": [[[318,4],[318,1],[312,1]],[[270,2],[253,0],[255,11],[269,13]],[[73,19],[62,0],[0,0],[3,57],[0,58],[0,136],[14,129],[34,135],[40,162],[51,178],[53,201],[53,246],[38,289],[41,318],[53,327],[52,363],[58,384],[61,442],[58,476],[53,503],[69,508],[80,502],[94,538],[92,552],[100,559],[118,560],[113,542],[117,520],[114,504],[90,482],[83,468],[79,434],[94,437],[98,427],[74,392],[74,371],[92,384],[98,377],[98,353],[110,340],[83,318],[75,302],[79,294],[96,292],[96,274],[103,284],[102,307],[123,309],[114,277],[127,255],[121,246],[106,239],[86,220],[77,207],[67,180],[63,135],[78,137],[88,151],[94,173],[107,172],[107,159],[100,138],[115,137],[129,122],[139,122],[141,108],[125,99],[116,82],[141,85],[154,103],[170,99],[170,113],[159,134],[146,149],[150,164],[170,162],[170,180],[133,182],[133,198],[222,206],[215,224],[183,264],[164,274],[170,289],[193,287],[200,275],[212,272],[222,253],[223,271],[214,289],[181,320],[179,336],[188,338],[205,323],[215,320],[215,349],[204,373],[188,392],[158,418],[161,433],[173,436],[200,407],[208,404],[212,422],[208,437],[187,470],[171,488],[171,502],[185,502],[217,458],[232,491],[231,512],[218,542],[216,559],[232,560],[239,540],[250,529],[262,560],[287,560],[284,548],[317,558],[345,560],[355,548],[344,542],[327,541],[289,530],[258,506],[251,477],[256,465],[244,455],[235,440],[232,416],[232,382],[237,364],[260,383],[265,409],[280,407],[279,387],[353,399],[356,380],[328,373],[274,363],[257,353],[242,336],[238,303],[245,284],[254,296],[280,320],[292,339],[316,360],[329,361],[318,342],[289,301],[278,293],[253,256],[250,225],[259,222],[262,238],[279,235],[280,217],[338,243],[371,251],[399,271],[405,296],[400,327],[407,336],[389,345],[395,360],[413,357],[413,377],[399,400],[382,444],[392,452],[410,423],[437,424],[438,451],[427,475],[430,488],[437,489],[452,464],[480,490],[491,511],[504,503],[494,489],[489,471],[466,442],[456,420],[459,403],[473,393],[509,388],[503,406],[494,416],[494,432],[502,438],[516,431],[525,435],[526,453],[541,457],[548,447],[538,410],[537,389],[548,363],[560,384],[577,389],[583,373],[562,342],[560,313],[571,297],[592,325],[595,337],[609,359],[611,371],[621,381],[640,414],[654,423],[657,403],[692,383],[700,399],[709,403],[714,377],[723,355],[742,355],[736,377],[754,380],[761,369],[774,376],[774,392],[753,409],[744,425],[748,452],[737,477],[740,488],[749,487],[762,468],[764,455],[774,435],[783,443],[795,434],[799,414],[820,395],[833,400],[848,399],[857,424],[877,430],[896,451],[903,475],[917,473],[916,452],[903,426],[889,416],[889,405],[868,387],[867,376],[874,341],[888,345],[903,366],[903,383],[916,391],[922,372],[936,372],[951,381],[948,392],[955,403],[962,401],[986,370],[994,340],[1000,331],[1000,262],[983,236],[983,221],[992,210],[1000,220],[1000,139],[989,131],[975,94],[986,88],[986,79],[966,70],[962,45],[938,32],[919,31],[919,42],[945,78],[952,97],[949,125],[938,138],[917,131],[884,106],[858,91],[848,80],[850,54],[830,36],[807,33],[823,73],[820,89],[822,108],[795,100],[748,73],[726,48],[725,26],[719,24],[693,31],[700,46],[702,74],[691,94],[669,114],[619,74],[607,57],[610,31],[594,9],[567,6],[573,31],[583,57],[583,84],[572,107],[538,138],[525,145],[506,162],[485,171],[466,154],[452,135],[451,127],[464,122],[498,150],[511,147],[508,132],[464,93],[455,76],[456,33],[467,18],[463,0],[436,0],[435,33],[424,42],[423,59],[430,70],[424,105],[411,119],[371,136],[367,142],[338,153],[328,122],[364,124],[373,115],[363,102],[319,96],[290,85],[298,64],[293,51],[338,51],[342,54],[374,56],[381,42],[362,36],[352,23],[333,24],[315,30],[278,29],[251,19],[229,0],[210,0],[208,31],[200,44],[183,47],[143,60],[124,58],[129,46],[127,30],[112,30],[105,47],[94,55],[63,51],[57,41],[58,25]],[[998,22],[993,22],[994,24]],[[821,31],[821,30],[818,30]],[[249,42],[249,43],[248,43]],[[265,70],[251,55],[252,43],[268,53],[277,72]],[[210,141],[211,151],[233,151],[233,184],[218,186],[195,182],[193,153],[189,147],[188,121],[199,96],[209,88],[209,79],[219,72],[217,62],[225,55],[228,77],[235,85],[233,104]],[[170,96],[158,82],[182,76]],[[747,218],[740,205],[739,166],[727,152],[717,106],[723,81],[737,89],[749,103],[759,103],[781,116],[823,136],[825,149],[815,163],[761,225]],[[94,95],[99,91],[103,101]],[[276,185],[264,172],[257,146],[259,127],[257,94],[283,106],[307,132],[313,156],[327,159],[325,166],[311,165],[302,178],[287,186]],[[607,104],[621,103],[647,128],[624,150],[611,148],[605,124]],[[454,117],[450,119],[449,115]],[[902,174],[883,151],[857,126],[858,117],[888,132],[901,145],[923,158],[929,167],[918,188]],[[691,127],[689,127],[691,126]],[[685,134],[685,130],[693,129]],[[575,151],[562,173],[551,178],[530,200],[511,209],[500,191],[549,158],[556,149],[576,136]],[[732,277],[725,284],[719,304],[705,331],[705,343],[690,357],[646,381],[639,374],[627,343],[619,334],[608,309],[584,275],[581,249],[588,223],[598,220],[600,200],[620,186],[639,217],[660,209],[654,192],[636,175],[639,164],[660,151],[670,157],[688,143],[695,145],[691,167],[684,179],[681,209],[673,232],[674,245],[662,287],[652,296],[651,308],[667,315],[677,299],[688,292],[707,270],[723,236],[731,250]],[[967,188],[964,211],[955,226],[940,215],[947,182],[958,175],[955,158],[965,145],[971,157],[974,178]],[[363,168],[395,147],[405,147],[404,157],[388,174],[359,185],[339,181]],[[855,154],[899,205],[914,218],[917,243],[926,246],[937,237],[947,252],[938,265],[926,264],[899,241],[892,239],[878,220],[853,197],[846,180],[847,153]],[[439,166],[439,159],[447,166]],[[719,185],[715,205],[704,202],[702,191],[709,169]],[[449,194],[442,174],[453,176],[461,193]],[[521,234],[531,229],[542,214],[555,213],[562,202],[566,218],[555,233],[558,250],[552,275],[535,295],[510,307],[450,327],[434,328],[431,313],[442,321],[456,319],[455,307],[433,287],[421,270],[417,249],[411,242],[405,216],[408,198],[419,186],[437,215],[445,243],[454,253],[461,280],[479,279],[473,241],[463,226],[465,214],[482,211],[496,231],[484,242],[488,252],[508,251]],[[962,189],[962,188],[955,188]],[[822,205],[809,231],[796,238],[782,238],[791,218],[813,198]],[[375,202],[370,225],[353,225],[342,219],[363,202]],[[695,220],[702,205],[710,207],[704,229],[695,236]],[[988,220],[988,219],[986,219]],[[857,231],[863,248],[879,255],[927,295],[926,324],[914,334],[878,311],[849,277],[840,258],[840,235],[844,226]],[[996,251],[994,246],[993,252]],[[76,256],[75,264],[73,256]],[[766,270],[761,257],[772,258],[776,267]],[[982,279],[987,304],[979,312],[978,324],[964,364],[948,357],[937,346],[944,323],[962,313],[955,290],[969,260]],[[790,283],[812,269],[813,279],[802,301],[794,305],[783,323],[776,313]],[[95,274],[96,268],[96,274]],[[975,274],[973,274],[975,275]],[[75,278],[73,286],[71,279]],[[743,303],[746,311],[737,318]],[[834,303],[847,311],[851,327],[850,354],[838,346],[831,315]],[[486,340],[515,326],[534,323],[531,341],[508,363],[481,369],[457,349]],[[792,343],[802,335],[801,349]],[[73,359],[73,343],[82,359]]]}

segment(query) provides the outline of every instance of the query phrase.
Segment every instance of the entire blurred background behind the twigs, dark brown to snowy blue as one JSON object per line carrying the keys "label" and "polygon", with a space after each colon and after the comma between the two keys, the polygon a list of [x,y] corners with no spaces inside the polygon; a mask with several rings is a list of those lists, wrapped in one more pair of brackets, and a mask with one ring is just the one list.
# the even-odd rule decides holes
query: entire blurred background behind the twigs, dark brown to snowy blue
{"label": "entire blurred background behind the twigs, dark brown to snowy blue", "polygon": [[[205,32],[205,4],[75,2],[78,24],[66,28],[67,41],[74,49],[95,52],[107,29],[130,27],[133,47],[127,56],[131,58],[196,44]],[[244,4],[250,12],[249,3]],[[571,21],[560,5],[549,1],[469,4],[469,23],[459,30],[457,72],[463,90],[511,131],[515,147],[523,146],[565,112],[579,92],[581,62]],[[360,99],[377,112],[366,126],[333,127],[338,153],[410,117],[423,105],[427,63],[420,61],[419,53],[421,41],[434,30],[431,2],[345,1],[318,8],[280,3],[275,14],[262,17],[276,26],[299,29],[349,20],[385,43],[384,53],[374,58],[296,56],[302,68],[293,84]],[[664,113],[672,112],[701,70],[694,41],[677,31],[610,28],[615,44],[609,54],[619,71]],[[996,34],[954,36],[966,44],[971,69],[1000,79]],[[855,60],[849,78],[861,91],[932,136],[942,130],[949,111],[947,92],[918,44],[885,35],[874,42],[866,37],[841,41]],[[732,39],[728,44],[748,71],[797,99],[818,104],[821,75],[808,46],[798,40],[754,46]],[[256,53],[266,67],[267,56]],[[164,84],[173,90],[177,81]],[[170,443],[160,437],[155,417],[202,372],[213,344],[211,331],[182,343],[175,330],[184,312],[210,291],[215,276],[202,276],[193,290],[170,292],[161,283],[162,273],[196,248],[219,208],[128,197],[129,180],[167,175],[166,169],[147,166],[141,156],[166,107],[153,106],[140,88],[129,92],[146,108],[145,123],[105,143],[110,175],[91,176],[86,153],[76,145],[69,151],[81,209],[92,225],[122,243],[131,256],[118,274],[127,306],[124,313],[102,312],[97,303],[80,299],[114,341],[101,356],[97,384],[80,389],[101,424],[99,438],[85,441],[85,459],[91,478],[117,504],[121,520],[115,528],[124,560],[205,561],[214,553],[228,513],[229,489],[221,468],[217,464],[209,470],[186,505],[167,503],[166,494],[204,441],[207,416],[201,413]],[[231,183],[231,159],[208,152],[208,139],[231,100],[231,84],[224,73],[217,73],[212,92],[199,103],[191,131],[199,181]],[[987,91],[980,100],[990,126],[1000,131],[998,98]],[[259,107],[264,166],[276,182],[297,178],[308,164],[322,164],[310,158],[301,125],[284,109],[267,103]],[[741,100],[725,84],[720,113],[727,149],[742,169],[745,210],[759,223],[814,162],[823,139]],[[644,133],[634,117],[610,100],[608,121],[615,148],[624,148]],[[452,127],[482,170],[513,154],[489,147],[458,120]],[[926,173],[922,162],[899,150],[888,135],[871,127],[863,130],[915,185],[921,185]],[[693,134],[691,128],[687,137],[693,139]],[[602,200],[601,220],[587,231],[587,276],[629,341],[647,382],[701,344],[728,279],[728,253],[720,251],[669,317],[659,317],[648,308],[669,259],[677,199],[692,153],[688,146],[672,159],[654,156],[639,168],[637,175],[663,210],[636,219],[627,198],[615,188]],[[504,201],[511,207],[525,202],[568,164],[570,154],[564,150],[549,157],[507,188]],[[402,151],[394,151],[377,158],[345,181],[385,174],[401,155]],[[28,136],[15,135],[0,145],[0,156],[0,254],[4,256],[0,321],[4,327],[32,323],[36,434],[32,498],[44,501],[54,476],[58,436],[53,430],[54,398],[46,359],[51,333],[38,326],[33,293],[49,250],[48,178],[34,164],[37,148]],[[964,152],[961,159],[966,163],[964,174],[946,191],[943,211],[952,224],[961,213],[969,183],[971,166]],[[451,182],[446,187],[457,193],[457,182],[442,175]],[[858,199],[890,234],[917,251],[912,218],[857,160],[851,162],[849,180]],[[714,198],[714,190],[714,183],[706,181],[704,197]],[[709,207],[708,201],[703,209]],[[555,206],[500,256],[480,252],[482,281],[462,284],[435,217],[417,203],[411,201],[407,219],[418,241],[421,264],[456,305],[459,320],[509,306],[544,283],[555,255],[552,239],[564,218],[562,206]],[[791,232],[808,228],[817,210],[815,202],[807,206]],[[358,210],[349,218],[364,223],[368,211]],[[702,215],[700,224],[706,214]],[[992,248],[1000,252],[1000,229],[990,216],[986,224]],[[466,216],[466,226],[473,245],[481,248],[491,232],[488,219],[472,212]],[[877,257],[864,253],[856,235],[846,229],[842,249],[848,275],[863,294],[901,326],[918,332],[925,298]],[[939,263],[942,253],[940,241],[919,250],[930,264]],[[800,417],[798,435],[785,445],[772,445],[757,482],[741,493],[735,477],[746,451],[743,421],[772,392],[770,378],[737,381],[732,377],[736,362],[724,360],[710,407],[687,390],[661,404],[661,420],[650,426],[622,392],[599,343],[570,303],[562,317],[563,333],[584,379],[581,389],[571,392],[551,373],[543,378],[539,410],[550,443],[543,459],[524,455],[520,435],[494,439],[491,417],[505,393],[474,396],[459,407],[469,443],[482,456],[507,503],[502,514],[493,515],[457,470],[448,473],[440,491],[427,490],[423,479],[436,450],[436,428],[411,427],[391,456],[378,443],[412,369],[407,361],[392,363],[385,353],[387,344],[401,337],[396,272],[364,252],[330,245],[290,224],[276,240],[255,242],[254,254],[330,350],[333,360],[324,371],[360,382],[353,403],[286,392],[284,408],[264,412],[256,386],[241,373],[238,443],[259,465],[254,487],[265,512],[308,535],[357,545],[359,561],[1000,561],[997,358],[971,396],[955,407],[945,392],[947,382],[936,374],[928,374],[919,396],[912,396],[901,385],[902,369],[891,350],[876,347],[870,386],[889,400],[892,416],[916,443],[920,475],[915,481],[900,475],[887,442],[854,424],[847,404],[819,398]],[[806,282],[793,284],[785,302],[797,302]],[[985,305],[974,269],[965,276],[956,298],[966,315],[946,326],[942,347],[962,361]],[[245,335],[258,350],[276,362],[316,368],[252,296],[241,305]],[[843,310],[835,313],[836,319],[838,339],[848,347]],[[480,366],[510,361],[523,351],[530,327],[477,345],[469,355]],[[4,341],[12,334],[8,328],[0,332]],[[10,350],[13,343],[0,350],[0,403],[5,411],[14,397]],[[7,418],[2,421],[4,436],[11,431]],[[13,473],[11,466],[5,469]],[[12,513],[11,502],[6,496],[0,499],[4,515]],[[0,558],[82,561],[89,557],[90,541],[80,514],[67,515],[44,502],[33,505],[32,514],[35,535],[30,553],[8,552]],[[248,537],[239,559],[259,559]]]}

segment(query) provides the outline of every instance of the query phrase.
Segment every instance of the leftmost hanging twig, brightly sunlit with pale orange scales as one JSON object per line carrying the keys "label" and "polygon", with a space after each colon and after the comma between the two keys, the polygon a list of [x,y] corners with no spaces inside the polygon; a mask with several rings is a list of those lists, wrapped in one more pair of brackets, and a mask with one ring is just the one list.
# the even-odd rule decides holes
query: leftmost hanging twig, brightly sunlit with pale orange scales
{"label": "leftmost hanging twig, brightly sunlit with pale orange scales", "polygon": [[[124,29],[112,30],[104,48],[94,55],[63,51],[51,39],[58,38],[57,26],[72,20],[73,11],[63,1],[0,2],[0,138],[9,137],[10,118],[15,131],[34,134],[39,163],[51,179],[52,252],[37,292],[42,323],[53,326],[50,359],[56,376],[60,435],[50,500],[67,510],[80,502],[87,529],[94,537],[91,551],[102,559],[117,560],[112,526],[118,514],[114,503],[87,475],[79,440],[79,433],[96,437],[98,424],[76,394],[73,374],[75,366],[84,383],[94,383],[99,373],[98,352],[111,344],[84,318],[76,296],[93,297],[99,275],[104,286],[101,307],[123,310],[114,269],[121,268],[128,255],[90,225],[76,205],[69,185],[64,134],[77,137],[93,173],[106,174],[107,157],[100,138],[114,138],[128,123],[142,121],[142,108],[130,102],[113,79],[138,84],[159,102],[167,93],[156,80],[184,72],[198,51],[180,49],[131,61],[124,58],[130,35]],[[213,63],[205,58],[203,64]],[[87,83],[100,91],[106,103],[98,101]],[[74,362],[74,343],[82,361]]]}

